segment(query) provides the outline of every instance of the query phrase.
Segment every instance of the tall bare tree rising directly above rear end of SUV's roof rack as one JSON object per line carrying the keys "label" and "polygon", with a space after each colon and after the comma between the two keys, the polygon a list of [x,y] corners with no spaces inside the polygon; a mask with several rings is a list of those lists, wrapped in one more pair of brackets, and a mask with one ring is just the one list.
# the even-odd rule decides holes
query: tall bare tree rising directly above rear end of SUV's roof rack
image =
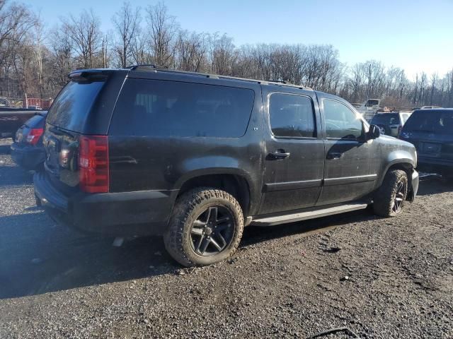
{"label": "tall bare tree rising directly above rear end of SUV's roof rack", "polygon": [[120,11],[112,18],[117,34],[117,42],[113,49],[121,67],[126,67],[131,61],[132,43],[134,37],[139,34],[140,19],[140,8],[133,9],[130,2],[124,2]]}

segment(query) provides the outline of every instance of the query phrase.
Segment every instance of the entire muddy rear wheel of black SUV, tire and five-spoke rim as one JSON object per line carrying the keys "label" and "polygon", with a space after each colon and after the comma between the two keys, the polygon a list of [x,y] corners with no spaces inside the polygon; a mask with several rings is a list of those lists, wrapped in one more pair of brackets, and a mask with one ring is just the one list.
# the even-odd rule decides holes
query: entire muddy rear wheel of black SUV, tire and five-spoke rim
{"label": "entire muddy rear wheel of black SUV, tire and five-spoke rim", "polygon": [[241,206],[234,196],[207,187],[176,201],[164,234],[168,253],[183,266],[205,266],[234,254],[243,232]]}

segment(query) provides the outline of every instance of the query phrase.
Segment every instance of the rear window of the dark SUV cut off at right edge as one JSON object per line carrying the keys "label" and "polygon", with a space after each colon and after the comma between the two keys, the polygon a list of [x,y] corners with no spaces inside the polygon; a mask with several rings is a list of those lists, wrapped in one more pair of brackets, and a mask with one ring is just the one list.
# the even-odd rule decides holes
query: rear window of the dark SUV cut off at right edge
{"label": "rear window of the dark SUV cut off at right edge", "polygon": [[453,134],[453,111],[415,111],[404,125],[404,130]]}

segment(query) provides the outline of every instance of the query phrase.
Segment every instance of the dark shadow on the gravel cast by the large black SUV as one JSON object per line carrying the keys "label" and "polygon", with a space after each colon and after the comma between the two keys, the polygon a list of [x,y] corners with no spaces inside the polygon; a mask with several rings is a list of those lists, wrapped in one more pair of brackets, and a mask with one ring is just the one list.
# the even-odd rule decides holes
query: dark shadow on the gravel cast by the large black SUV
{"label": "dark shadow on the gravel cast by the large black SUV", "polygon": [[[115,247],[111,237],[56,225],[40,208],[28,211],[0,217],[0,299],[175,274],[180,269],[166,254],[161,237],[128,239]],[[367,218],[374,217],[357,211],[340,218],[246,227],[241,247]]]}

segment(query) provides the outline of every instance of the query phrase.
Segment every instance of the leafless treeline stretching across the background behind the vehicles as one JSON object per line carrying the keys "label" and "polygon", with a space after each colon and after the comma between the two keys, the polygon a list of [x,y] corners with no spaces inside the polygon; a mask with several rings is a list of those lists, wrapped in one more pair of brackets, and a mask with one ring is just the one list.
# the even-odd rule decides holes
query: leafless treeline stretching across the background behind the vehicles
{"label": "leafless treeline stretching across the background behind the vehicles", "polygon": [[[453,69],[409,81],[403,69],[379,61],[348,66],[331,45],[246,44],[226,34],[180,27],[164,3],[125,2],[101,30],[93,11],[81,11],[45,28],[44,18],[23,4],[0,0],[0,96],[55,97],[73,69],[156,64],[171,69],[286,81],[362,102],[388,106],[453,106]],[[452,65],[453,66],[453,65]]]}

